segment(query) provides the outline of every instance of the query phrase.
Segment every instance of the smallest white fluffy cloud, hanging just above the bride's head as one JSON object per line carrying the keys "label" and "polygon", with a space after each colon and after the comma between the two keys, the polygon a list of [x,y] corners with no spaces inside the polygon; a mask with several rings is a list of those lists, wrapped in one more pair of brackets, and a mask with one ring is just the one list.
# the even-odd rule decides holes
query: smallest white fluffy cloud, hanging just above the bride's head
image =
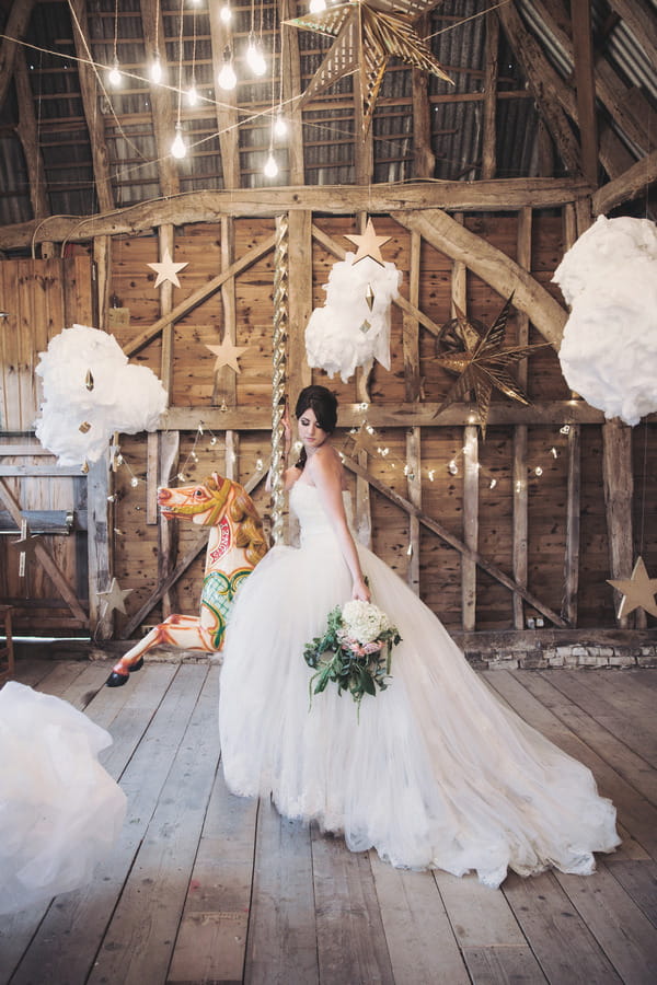
{"label": "smallest white fluffy cloud, hanging just above the bride's head", "polygon": [[[353,264],[355,255],[347,253],[333,265],[324,285],[326,302],[315,308],[306,328],[308,364],[330,376],[339,373],[344,383],[371,359],[390,369],[390,304],[402,280],[394,264],[381,266],[369,256]],[[371,311],[368,285],[374,298]]]}

